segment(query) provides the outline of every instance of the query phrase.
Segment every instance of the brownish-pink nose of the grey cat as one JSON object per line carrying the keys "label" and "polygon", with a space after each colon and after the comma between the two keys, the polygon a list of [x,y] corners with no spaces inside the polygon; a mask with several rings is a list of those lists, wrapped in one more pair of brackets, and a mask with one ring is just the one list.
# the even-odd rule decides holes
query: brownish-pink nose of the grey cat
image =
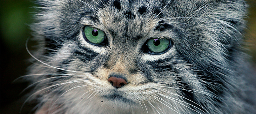
{"label": "brownish-pink nose of the grey cat", "polygon": [[126,85],[127,82],[123,78],[117,78],[114,76],[111,76],[108,78],[108,82],[112,83],[114,87],[121,88],[123,85]]}

